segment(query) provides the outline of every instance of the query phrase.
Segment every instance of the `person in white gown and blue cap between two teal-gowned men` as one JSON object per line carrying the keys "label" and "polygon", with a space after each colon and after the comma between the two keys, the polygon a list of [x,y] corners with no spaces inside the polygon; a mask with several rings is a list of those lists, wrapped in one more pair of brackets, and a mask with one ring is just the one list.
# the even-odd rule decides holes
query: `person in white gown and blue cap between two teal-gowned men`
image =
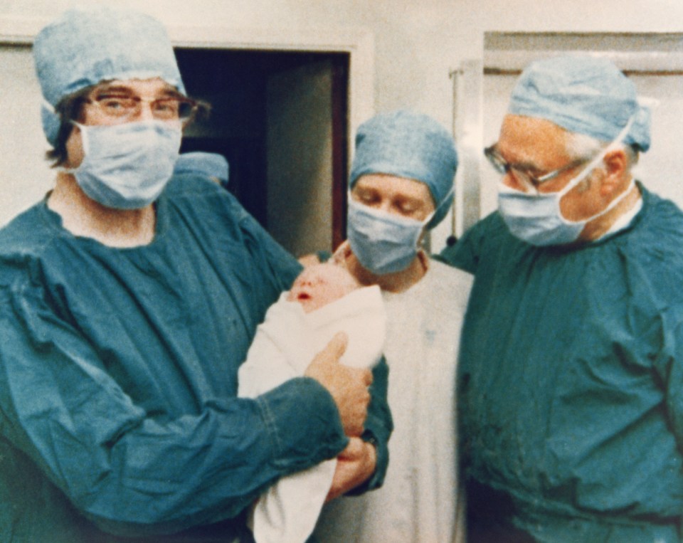
{"label": "person in white gown and blue cap between two teal-gowned men", "polygon": [[330,503],[320,542],[460,540],[455,367],[472,276],[421,245],[448,212],[456,168],[452,136],[427,115],[382,113],[356,134],[348,240],[333,259],[381,288],[394,431],[383,487]]}

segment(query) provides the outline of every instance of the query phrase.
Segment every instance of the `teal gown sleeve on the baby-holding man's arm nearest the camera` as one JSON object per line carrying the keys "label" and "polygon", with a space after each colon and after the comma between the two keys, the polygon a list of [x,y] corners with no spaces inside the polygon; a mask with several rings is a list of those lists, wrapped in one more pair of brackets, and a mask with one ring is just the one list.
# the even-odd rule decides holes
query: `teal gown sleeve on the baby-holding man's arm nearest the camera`
{"label": "teal gown sleeve on the baby-holding man's arm nearest the camera", "polygon": [[234,517],[346,446],[332,397],[305,377],[176,418],[146,412],[45,297],[31,282],[0,289],[0,429],[100,529],[172,533]]}

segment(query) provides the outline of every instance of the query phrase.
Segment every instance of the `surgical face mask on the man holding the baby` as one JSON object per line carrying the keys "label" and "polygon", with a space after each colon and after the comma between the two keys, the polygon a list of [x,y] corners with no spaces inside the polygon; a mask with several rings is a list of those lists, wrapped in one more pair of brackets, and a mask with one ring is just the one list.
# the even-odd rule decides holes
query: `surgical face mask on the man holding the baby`
{"label": "surgical face mask on the man holding the baby", "polygon": [[114,209],[152,204],[171,179],[182,137],[179,122],[147,120],[80,128],[83,162],[73,174],[85,194]]}

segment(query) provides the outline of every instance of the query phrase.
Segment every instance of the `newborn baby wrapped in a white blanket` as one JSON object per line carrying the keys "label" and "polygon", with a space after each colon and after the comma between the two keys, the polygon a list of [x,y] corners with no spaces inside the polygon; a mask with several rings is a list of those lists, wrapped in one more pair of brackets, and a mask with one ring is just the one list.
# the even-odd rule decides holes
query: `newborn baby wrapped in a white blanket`
{"label": "newborn baby wrapped in a white blanket", "polygon": [[[371,368],[382,355],[386,314],[378,286],[361,287],[341,266],[312,265],[266,312],[239,370],[239,396],[254,397],[302,376],[337,332],[349,338],[341,364]],[[302,543],[313,531],[337,460],[282,478],[255,503],[257,543]]]}

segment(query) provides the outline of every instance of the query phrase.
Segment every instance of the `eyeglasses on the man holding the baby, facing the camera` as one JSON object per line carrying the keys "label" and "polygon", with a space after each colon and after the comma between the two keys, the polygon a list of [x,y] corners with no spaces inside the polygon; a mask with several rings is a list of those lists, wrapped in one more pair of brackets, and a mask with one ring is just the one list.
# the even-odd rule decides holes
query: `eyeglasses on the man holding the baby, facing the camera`
{"label": "eyeglasses on the man holding the baby, facing the camera", "polygon": [[85,98],[102,115],[115,120],[128,120],[142,112],[142,105],[149,104],[152,116],[162,121],[180,120],[186,122],[197,110],[197,102],[184,96],[143,98],[120,92],[102,92],[95,97]]}

